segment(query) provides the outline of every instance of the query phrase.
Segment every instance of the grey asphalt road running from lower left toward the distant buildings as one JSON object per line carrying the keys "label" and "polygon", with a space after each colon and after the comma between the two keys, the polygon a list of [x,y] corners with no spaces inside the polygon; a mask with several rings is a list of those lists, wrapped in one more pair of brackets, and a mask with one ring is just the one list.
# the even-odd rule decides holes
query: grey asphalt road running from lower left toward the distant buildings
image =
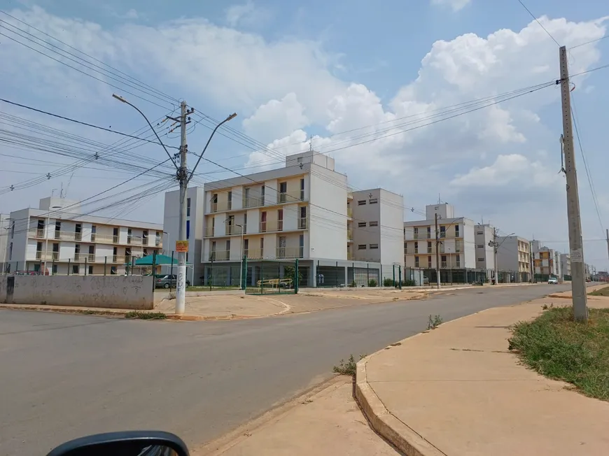
{"label": "grey asphalt road running from lower left toward the distant buildings", "polygon": [[424,301],[232,322],[0,311],[0,455],[126,429],[214,439],[372,353],[444,321],[563,285],[475,287]]}

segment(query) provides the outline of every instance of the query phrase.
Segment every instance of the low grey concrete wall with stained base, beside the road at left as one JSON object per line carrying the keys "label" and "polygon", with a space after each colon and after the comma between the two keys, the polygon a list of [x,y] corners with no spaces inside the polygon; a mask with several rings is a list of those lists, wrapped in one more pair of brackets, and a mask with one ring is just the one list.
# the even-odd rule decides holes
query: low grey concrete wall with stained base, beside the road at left
{"label": "low grey concrete wall with stained base, beside the road at left", "polygon": [[12,276],[13,298],[7,299],[10,276],[0,278],[0,302],[94,308],[152,309],[151,276]]}

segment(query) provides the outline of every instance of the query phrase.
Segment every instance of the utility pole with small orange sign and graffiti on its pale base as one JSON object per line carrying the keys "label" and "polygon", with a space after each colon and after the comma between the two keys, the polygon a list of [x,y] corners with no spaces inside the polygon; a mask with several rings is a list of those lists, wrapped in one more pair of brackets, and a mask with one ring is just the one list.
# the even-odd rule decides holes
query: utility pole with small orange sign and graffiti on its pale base
{"label": "utility pole with small orange sign and graffiti on its pale base", "polygon": [[[180,182],[180,220],[178,250],[178,280],[176,283],[176,314],[182,315],[186,311],[186,251],[188,251],[188,238],[186,237],[186,200],[188,198],[188,169],[186,168],[186,101],[180,104],[180,167],[177,172]],[[186,246],[186,248],[185,248]],[[186,250],[186,251],[183,251]]]}

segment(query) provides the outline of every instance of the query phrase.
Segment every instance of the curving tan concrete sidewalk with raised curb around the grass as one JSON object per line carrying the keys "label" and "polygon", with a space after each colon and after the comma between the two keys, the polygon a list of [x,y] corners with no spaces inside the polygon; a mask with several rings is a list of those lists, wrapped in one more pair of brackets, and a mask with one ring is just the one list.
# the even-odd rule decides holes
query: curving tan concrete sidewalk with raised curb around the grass
{"label": "curving tan concrete sidewalk with raised curb around the grass", "polygon": [[407,455],[607,455],[609,403],[526,369],[507,350],[510,326],[543,304],[567,303],[491,308],[363,359],[356,394],[372,427]]}

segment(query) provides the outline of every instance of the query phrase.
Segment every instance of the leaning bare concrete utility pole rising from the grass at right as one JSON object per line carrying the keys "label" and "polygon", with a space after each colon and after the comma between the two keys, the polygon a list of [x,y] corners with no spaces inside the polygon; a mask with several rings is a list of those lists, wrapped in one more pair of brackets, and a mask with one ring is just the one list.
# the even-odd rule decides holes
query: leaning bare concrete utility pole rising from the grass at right
{"label": "leaning bare concrete utility pole rising from the grass at right", "polygon": [[573,295],[573,315],[575,320],[587,322],[588,306],[586,277],[584,271],[584,248],[582,241],[582,220],[580,218],[580,196],[577,191],[577,171],[573,152],[573,125],[571,123],[571,99],[569,69],[565,46],[559,50],[561,67],[561,98],[563,110],[563,149],[565,174],[567,178],[567,217],[569,225],[569,250],[571,256],[571,294]]}

